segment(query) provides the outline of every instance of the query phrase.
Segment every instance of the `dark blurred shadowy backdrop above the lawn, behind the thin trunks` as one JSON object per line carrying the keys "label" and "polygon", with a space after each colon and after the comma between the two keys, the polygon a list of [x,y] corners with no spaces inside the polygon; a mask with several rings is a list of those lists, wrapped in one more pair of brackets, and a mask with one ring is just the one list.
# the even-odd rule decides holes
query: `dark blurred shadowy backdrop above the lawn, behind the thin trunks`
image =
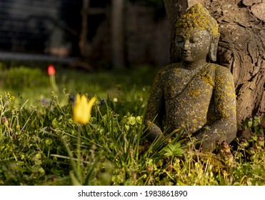
{"label": "dark blurred shadowy backdrop above the lawn, behind the thin trunks", "polygon": [[[0,0],[0,51],[79,57],[111,66],[112,1],[89,2],[84,55],[79,47],[82,2]],[[163,1],[124,0],[123,14],[124,66],[167,64],[170,33]]]}

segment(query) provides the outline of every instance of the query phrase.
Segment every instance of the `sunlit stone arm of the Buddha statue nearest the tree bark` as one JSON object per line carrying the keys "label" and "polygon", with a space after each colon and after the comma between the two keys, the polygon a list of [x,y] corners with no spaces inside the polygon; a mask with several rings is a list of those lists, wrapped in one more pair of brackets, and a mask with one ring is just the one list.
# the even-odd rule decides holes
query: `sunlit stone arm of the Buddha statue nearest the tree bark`
{"label": "sunlit stone arm of the Buddha statue nearest the tree bark", "polygon": [[204,150],[214,150],[216,141],[230,143],[236,137],[236,94],[234,80],[230,71],[224,67],[219,68],[215,75],[214,86],[214,124],[200,131],[196,136],[202,140]]}

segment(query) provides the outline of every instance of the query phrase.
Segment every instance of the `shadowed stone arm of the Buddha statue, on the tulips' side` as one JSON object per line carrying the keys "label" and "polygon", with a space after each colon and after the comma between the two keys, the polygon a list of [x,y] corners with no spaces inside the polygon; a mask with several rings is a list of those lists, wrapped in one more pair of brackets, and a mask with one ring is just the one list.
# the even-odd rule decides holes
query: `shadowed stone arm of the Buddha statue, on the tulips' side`
{"label": "shadowed stone arm of the Buddha statue, on the tulips' side", "polygon": [[146,138],[154,141],[157,137],[163,136],[161,123],[164,115],[164,89],[162,74],[156,75],[154,84],[151,86],[149,101],[146,105],[144,124],[147,128],[145,131]]}

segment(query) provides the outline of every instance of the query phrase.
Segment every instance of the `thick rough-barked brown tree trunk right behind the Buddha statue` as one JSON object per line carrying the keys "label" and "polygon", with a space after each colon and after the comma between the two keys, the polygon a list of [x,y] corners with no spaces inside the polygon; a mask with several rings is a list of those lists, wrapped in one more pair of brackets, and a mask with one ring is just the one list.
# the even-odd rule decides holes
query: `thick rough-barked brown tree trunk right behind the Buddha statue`
{"label": "thick rough-barked brown tree trunk right behind the Buddha statue", "polygon": [[217,64],[231,69],[236,88],[238,135],[246,118],[265,115],[265,2],[261,0],[164,0],[171,22],[171,62],[175,62],[174,24],[201,3],[219,23]]}

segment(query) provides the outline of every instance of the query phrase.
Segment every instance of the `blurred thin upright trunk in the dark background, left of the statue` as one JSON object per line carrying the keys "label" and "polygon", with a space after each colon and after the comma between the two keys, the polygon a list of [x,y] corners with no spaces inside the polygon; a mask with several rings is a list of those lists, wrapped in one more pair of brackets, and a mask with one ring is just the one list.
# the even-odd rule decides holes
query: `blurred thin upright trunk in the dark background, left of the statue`
{"label": "blurred thin upright trunk in the dark background, left of the statue", "polygon": [[114,67],[124,67],[124,0],[111,2],[111,54]]}

